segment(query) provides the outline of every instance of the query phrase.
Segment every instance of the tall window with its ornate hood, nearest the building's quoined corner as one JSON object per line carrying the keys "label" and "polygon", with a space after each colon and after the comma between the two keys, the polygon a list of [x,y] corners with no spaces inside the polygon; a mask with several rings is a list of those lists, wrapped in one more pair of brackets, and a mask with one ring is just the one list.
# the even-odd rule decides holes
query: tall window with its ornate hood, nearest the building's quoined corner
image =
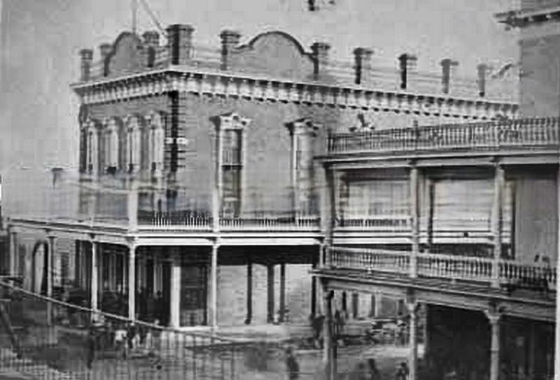
{"label": "tall window with its ornate hood, nearest the building's quoined corner", "polygon": [[245,164],[245,127],[251,122],[236,113],[211,118],[217,132],[217,178],[223,216],[241,213],[243,170]]}

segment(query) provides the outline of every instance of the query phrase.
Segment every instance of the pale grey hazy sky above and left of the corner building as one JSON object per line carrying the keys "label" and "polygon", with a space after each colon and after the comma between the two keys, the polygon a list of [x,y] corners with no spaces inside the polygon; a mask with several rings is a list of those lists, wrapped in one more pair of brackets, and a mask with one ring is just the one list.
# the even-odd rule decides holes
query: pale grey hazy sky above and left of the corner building
{"label": "pale grey hazy sky above and left of the corner building", "polygon": [[[335,0],[318,13],[306,11],[307,0],[148,1],[162,24],[192,24],[195,43],[216,48],[219,32],[230,28],[241,31],[242,42],[270,30],[304,46],[325,41],[337,59],[367,46],[381,65],[413,52],[420,69],[438,70],[440,59],[452,57],[470,76],[479,62],[517,59],[515,35],[493,19],[512,0]],[[78,100],[69,84],[78,78],[78,50],[94,48],[97,59],[99,43],[130,29],[130,2],[3,0],[0,168],[76,164]],[[140,13],[139,31],[146,29],[154,28]]]}

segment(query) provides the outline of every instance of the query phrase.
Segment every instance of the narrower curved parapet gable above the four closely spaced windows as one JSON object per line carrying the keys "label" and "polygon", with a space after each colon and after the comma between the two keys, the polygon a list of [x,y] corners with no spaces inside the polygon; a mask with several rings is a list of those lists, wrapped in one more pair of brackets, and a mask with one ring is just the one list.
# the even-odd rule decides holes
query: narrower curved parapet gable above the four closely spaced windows
{"label": "narrower curved parapet gable above the four closely spaced windows", "polygon": [[144,62],[144,44],[141,38],[125,31],[117,37],[103,64],[106,76],[111,77],[139,71],[144,68]]}

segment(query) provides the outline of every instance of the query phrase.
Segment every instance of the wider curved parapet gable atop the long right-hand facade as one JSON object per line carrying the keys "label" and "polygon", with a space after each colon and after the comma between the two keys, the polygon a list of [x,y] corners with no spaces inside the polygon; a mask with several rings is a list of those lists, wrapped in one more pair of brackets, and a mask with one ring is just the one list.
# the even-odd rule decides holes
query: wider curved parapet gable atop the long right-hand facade
{"label": "wider curved parapet gable atop the long right-hand facade", "polygon": [[265,74],[272,78],[306,80],[314,72],[311,53],[282,31],[259,34],[246,45],[232,50],[232,71]]}

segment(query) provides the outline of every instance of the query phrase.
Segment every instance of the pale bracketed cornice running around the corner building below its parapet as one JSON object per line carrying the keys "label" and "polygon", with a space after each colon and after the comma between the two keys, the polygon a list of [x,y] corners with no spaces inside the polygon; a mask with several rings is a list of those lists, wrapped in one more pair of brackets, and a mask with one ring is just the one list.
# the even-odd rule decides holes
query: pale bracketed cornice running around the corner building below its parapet
{"label": "pale bracketed cornice running around the corner building below its parapet", "polygon": [[321,82],[246,76],[239,73],[202,71],[184,66],[144,71],[119,78],[76,83],[71,88],[84,104],[104,104],[179,91],[206,97],[243,98],[253,101],[353,108],[415,115],[465,119],[510,117],[518,105],[481,98],[444,97],[374,90],[360,85],[341,86]]}

